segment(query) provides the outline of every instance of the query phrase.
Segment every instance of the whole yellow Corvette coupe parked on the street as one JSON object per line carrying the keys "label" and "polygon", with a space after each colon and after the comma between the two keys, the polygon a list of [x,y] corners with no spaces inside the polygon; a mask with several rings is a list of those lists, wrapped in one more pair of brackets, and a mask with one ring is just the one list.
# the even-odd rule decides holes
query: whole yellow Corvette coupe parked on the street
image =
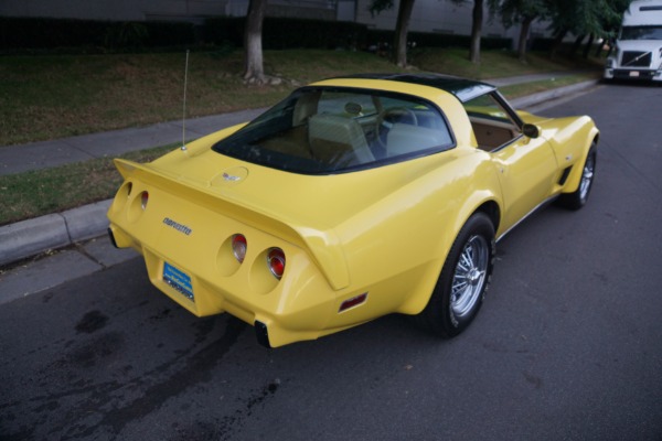
{"label": "whole yellow Corvette coupe parked on the street", "polygon": [[548,201],[586,203],[597,140],[589,117],[515,111],[480,82],[325,79],[151,163],[116,160],[109,233],[175,302],[268,347],[394,312],[451,337],[496,240]]}

